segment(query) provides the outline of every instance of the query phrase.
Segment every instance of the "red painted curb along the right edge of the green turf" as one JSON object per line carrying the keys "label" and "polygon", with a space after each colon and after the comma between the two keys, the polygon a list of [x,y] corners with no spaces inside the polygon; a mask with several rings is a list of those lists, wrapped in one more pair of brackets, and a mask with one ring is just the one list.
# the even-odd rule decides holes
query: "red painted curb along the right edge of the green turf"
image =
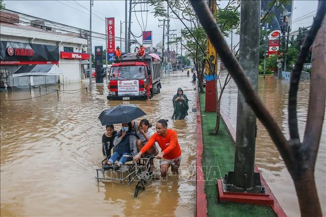
{"label": "red painted curb along the right edge of the green turf", "polygon": [[[233,141],[235,142],[236,132],[235,132],[233,126],[231,125],[230,121],[228,120],[228,118],[226,117],[226,114],[222,111],[222,109],[220,111],[220,114],[221,114],[224,122],[226,123],[227,129],[230,132],[230,134],[231,134],[231,136],[233,138]],[[255,165],[255,172],[259,172],[259,169],[258,169],[258,167],[256,165]],[[266,192],[269,193],[270,197],[274,200],[274,205],[271,205],[272,209],[274,210],[274,212],[276,213],[276,215],[278,217],[287,217],[284,210],[279,205],[279,203],[278,203],[275,195],[273,194],[272,190],[270,189],[267,182],[263,178],[263,175],[261,173],[259,173],[259,174],[260,174],[260,181],[264,185]]]}

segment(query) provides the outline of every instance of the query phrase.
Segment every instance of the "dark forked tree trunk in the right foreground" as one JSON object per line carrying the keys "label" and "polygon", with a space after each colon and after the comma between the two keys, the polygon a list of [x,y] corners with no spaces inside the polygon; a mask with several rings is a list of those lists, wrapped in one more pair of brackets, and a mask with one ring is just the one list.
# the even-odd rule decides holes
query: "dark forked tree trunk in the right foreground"
{"label": "dark forked tree trunk in the right foreground", "polygon": [[[222,32],[210,16],[210,11],[205,2],[203,0],[191,0],[191,3],[208,38],[220,54],[220,58],[252,111],[269,132],[283,158],[294,181],[301,216],[321,217],[322,209],[317,194],[314,170],[326,105],[326,1],[320,0],[318,3],[316,18],[302,43],[296,65],[291,74],[288,101],[289,140],[286,140],[275,119],[254,91],[239,63],[228,48]],[[316,56],[314,56],[312,62],[307,122],[304,138],[301,142],[297,119],[297,93],[302,66],[314,41],[313,50]]]}

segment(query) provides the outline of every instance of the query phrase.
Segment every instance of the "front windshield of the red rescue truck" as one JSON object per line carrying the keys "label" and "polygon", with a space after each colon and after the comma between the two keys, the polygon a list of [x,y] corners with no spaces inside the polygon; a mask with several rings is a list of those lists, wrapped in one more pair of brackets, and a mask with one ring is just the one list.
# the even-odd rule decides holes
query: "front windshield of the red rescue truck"
{"label": "front windshield of the red rescue truck", "polygon": [[145,79],[145,68],[144,66],[111,67],[110,79]]}

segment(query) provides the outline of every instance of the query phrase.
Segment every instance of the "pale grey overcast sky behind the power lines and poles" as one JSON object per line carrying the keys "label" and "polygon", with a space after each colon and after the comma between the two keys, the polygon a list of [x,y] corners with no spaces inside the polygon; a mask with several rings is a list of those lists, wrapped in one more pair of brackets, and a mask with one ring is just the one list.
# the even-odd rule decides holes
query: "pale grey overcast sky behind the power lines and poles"
{"label": "pale grey overcast sky behind the power lines and poles", "polygon": [[[78,28],[89,29],[89,0],[4,0],[6,8],[21,13],[33,15],[35,17],[43,18],[50,21],[55,21],[61,24],[67,24],[75,26]],[[220,7],[226,5],[227,0],[218,1]],[[293,21],[292,31],[297,30],[299,27],[308,26],[312,24],[313,17],[309,17],[309,13],[317,9],[317,0],[294,0],[294,10],[293,10]],[[80,4],[80,5],[79,5]],[[81,6],[82,5],[82,6]],[[84,8],[85,7],[85,8]],[[137,4],[136,10],[146,9],[144,4]],[[158,27],[160,22],[159,18],[154,18],[153,8],[148,7],[149,12],[142,12],[143,21],[140,12],[136,12],[138,21],[136,19],[135,13],[132,13],[131,21],[131,31],[134,35],[141,35],[142,29],[146,27],[146,30],[152,31],[153,46],[162,40],[163,28]],[[92,16],[92,31],[105,33],[105,17],[114,17],[116,22],[115,34],[120,36],[120,21],[125,21],[125,1],[124,0],[94,0],[94,6],[92,7],[92,12],[97,16]],[[316,12],[311,13],[314,15]],[[303,15],[308,14],[306,19],[300,18]],[[147,19],[146,19],[147,17]],[[298,19],[299,18],[299,19]],[[297,19],[297,20],[296,20]],[[146,25],[147,20],[147,25]],[[139,24],[139,23],[140,24]],[[142,27],[140,27],[142,26]],[[184,28],[176,19],[171,19],[170,29],[176,29],[174,33],[180,36],[181,28]],[[125,35],[125,24],[122,27],[122,36]],[[132,38],[132,37],[131,37]],[[133,38],[132,38],[133,39]],[[137,39],[140,43],[142,38]],[[166,40],[166,39],[165,39]],[[233,45],[235,45],[239,40],[239,37],[233,37]],[[105,47],[105,40],[94,39],[92,40],[93,46],[103,46]],[[230,44],[230,39],[227,39]],[[116,46],[120,46],[120,42],[116,42]],[[124,50],[124,42],[123,50]],[[172,50],[175,47],[172,48]],[[180,53],[180,48],[178,52]]]}

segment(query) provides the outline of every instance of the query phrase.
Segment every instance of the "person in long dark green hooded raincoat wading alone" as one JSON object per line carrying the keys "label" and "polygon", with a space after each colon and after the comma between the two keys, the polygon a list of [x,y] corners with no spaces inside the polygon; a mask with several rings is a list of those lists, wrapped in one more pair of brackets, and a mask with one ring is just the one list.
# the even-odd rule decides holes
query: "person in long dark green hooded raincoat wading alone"
{"label": "person in long dark green hooded raincoat wading alone", "polygon": [[175,109],[173,112],[172,119],[181,120],[184,119],[188,115],[188,98],[185,94],[183,94],[183,90],[178,88],[177,93],[173,96],[172,99],[173,108]]}

